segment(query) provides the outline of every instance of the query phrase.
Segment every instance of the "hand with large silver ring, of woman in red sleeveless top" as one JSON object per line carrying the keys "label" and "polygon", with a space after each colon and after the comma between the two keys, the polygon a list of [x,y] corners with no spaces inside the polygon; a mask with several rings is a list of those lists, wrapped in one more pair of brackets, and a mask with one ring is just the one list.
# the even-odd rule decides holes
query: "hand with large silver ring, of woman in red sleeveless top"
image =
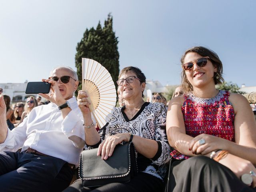
{"label": "hand with large silver ring, of woman in red sleeveless top", "polygon": [[[200,144],[199,140],[203,139],[204,144]],[[189,149],[193,154],[206,155],[214,150],[222,149],[225,150],[226,143],[228,140],[219,138],[208,134],[200,134],[193,138],[189,143]]]}

